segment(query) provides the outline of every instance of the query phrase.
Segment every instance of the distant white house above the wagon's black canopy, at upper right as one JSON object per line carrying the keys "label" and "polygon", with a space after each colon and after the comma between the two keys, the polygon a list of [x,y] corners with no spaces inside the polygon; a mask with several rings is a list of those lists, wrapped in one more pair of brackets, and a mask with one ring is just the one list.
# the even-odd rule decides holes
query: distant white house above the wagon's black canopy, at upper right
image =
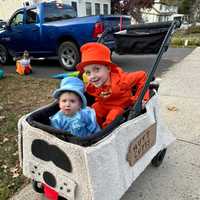
{"label": "distant white house above the wagon's black canopy, at upper right", "polygon": [[154,5],[150,9],[142,10],[142,18],[144,22],[165,22],[173,20],[173,16],[178,13],[178,6],[168,5],[155,0]]}

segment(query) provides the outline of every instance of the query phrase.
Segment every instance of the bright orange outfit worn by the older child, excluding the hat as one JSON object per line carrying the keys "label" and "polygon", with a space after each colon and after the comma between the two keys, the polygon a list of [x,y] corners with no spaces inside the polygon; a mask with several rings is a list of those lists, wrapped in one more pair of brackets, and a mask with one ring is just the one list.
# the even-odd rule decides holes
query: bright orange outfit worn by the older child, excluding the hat
{"label": "bright orange outfit worn by the older child, excluding the hat", "polygon": [[[133,105],[137,100],[145,82],[147,75],[144,71],[127,73],[120,68],[110,72],[110,84],[99,88],[92,84],[86,86],[88,94],[95,97],[92,107],[96,111],[97,121],[102,127],[110,124],[124,109]],[[137,90],[134,96],[132,88]],[[148,93],[145,95],[147,100]]]}

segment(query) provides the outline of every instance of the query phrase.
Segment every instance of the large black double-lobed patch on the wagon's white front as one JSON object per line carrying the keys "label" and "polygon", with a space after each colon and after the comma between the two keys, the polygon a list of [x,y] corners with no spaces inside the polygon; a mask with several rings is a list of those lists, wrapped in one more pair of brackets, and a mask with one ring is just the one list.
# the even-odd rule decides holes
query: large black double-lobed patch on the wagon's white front
{"label": "large black double-lobed patch on the wagon's white front", "polygon": [[31,145],[32,154],[41,160],[52,161],[57,167],[72,172],[72,165],[68,156],[55,145],[50,145],[44,140],[33,140]]}

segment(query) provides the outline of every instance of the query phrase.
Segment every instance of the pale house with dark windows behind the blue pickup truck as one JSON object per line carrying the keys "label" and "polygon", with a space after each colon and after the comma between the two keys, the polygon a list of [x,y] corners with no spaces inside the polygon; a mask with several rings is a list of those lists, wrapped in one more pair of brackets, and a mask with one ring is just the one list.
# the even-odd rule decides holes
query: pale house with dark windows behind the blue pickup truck
{"label": "pale house with dark windows behind the blue pickup truck", "polygon": [[[0,0],[0,19],[7,21],[16,9],[40,1],[41,0]],[[49,0],[46,1],[49,2]],[[58,2],[72,5],[79,17],[99,14],[107,15],[111,12],[111,0],[58,0]]]}

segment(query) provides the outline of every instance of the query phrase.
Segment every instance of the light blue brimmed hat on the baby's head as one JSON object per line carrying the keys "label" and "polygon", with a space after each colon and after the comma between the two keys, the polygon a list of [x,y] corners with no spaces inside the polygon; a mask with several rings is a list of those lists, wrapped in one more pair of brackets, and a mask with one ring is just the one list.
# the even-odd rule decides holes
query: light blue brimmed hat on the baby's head
{"label": "light blue brimmed hat on the baby's head", "polygon": [[60,83],[60,88],[56,89],[53,92],[53,97],[55,99],[58,99],[63,92],[67,91],[75,92],[77,95],[80,96],[82,100],[82,108],[85,108],[87,106],[87,100],[84,96],[85,88],[83,81],[75,77],[66,77],[62,79]]}

